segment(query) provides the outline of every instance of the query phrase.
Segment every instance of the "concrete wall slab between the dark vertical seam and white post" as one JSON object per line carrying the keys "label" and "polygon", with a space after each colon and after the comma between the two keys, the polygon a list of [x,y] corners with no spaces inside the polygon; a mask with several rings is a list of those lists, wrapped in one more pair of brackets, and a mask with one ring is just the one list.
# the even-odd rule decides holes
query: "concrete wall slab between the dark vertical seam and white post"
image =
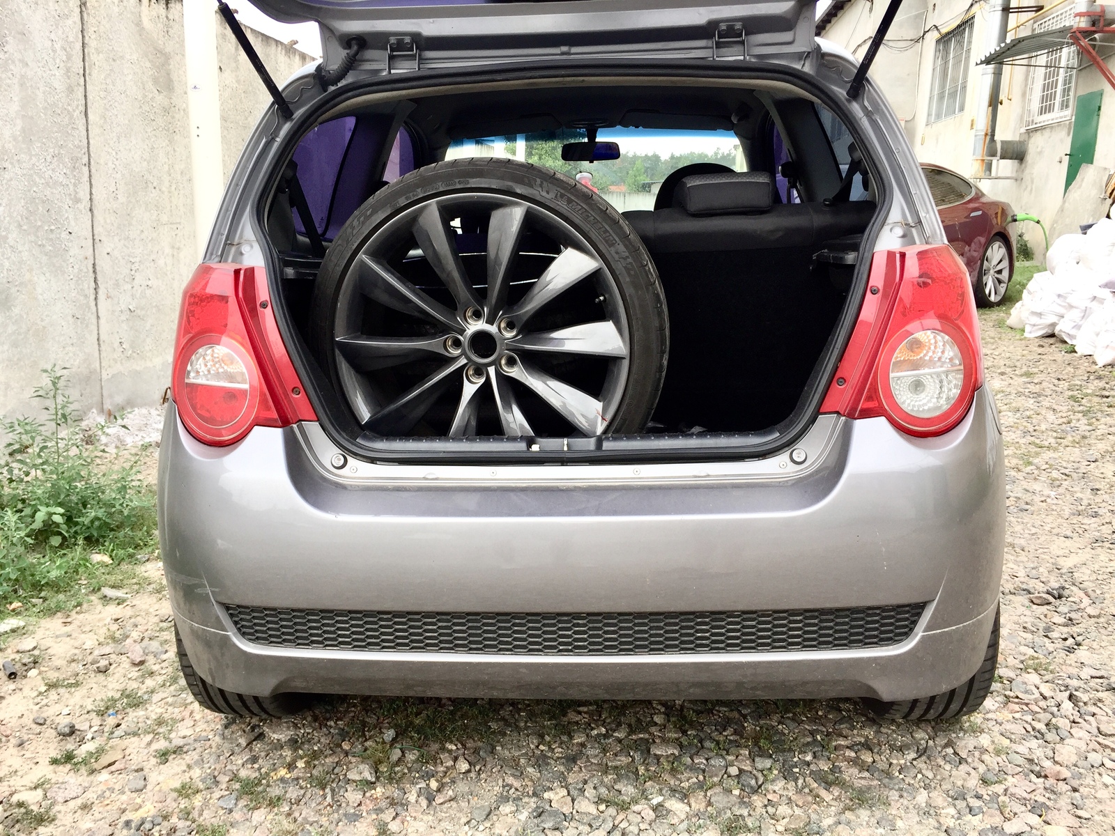
{"label": "concrete wall slab between the dark vertical seam and white post", "polygon": [[182,6],[95,0],[86,13],[93,229],[105,406],[167,386],[177,293],[194,261]]}

